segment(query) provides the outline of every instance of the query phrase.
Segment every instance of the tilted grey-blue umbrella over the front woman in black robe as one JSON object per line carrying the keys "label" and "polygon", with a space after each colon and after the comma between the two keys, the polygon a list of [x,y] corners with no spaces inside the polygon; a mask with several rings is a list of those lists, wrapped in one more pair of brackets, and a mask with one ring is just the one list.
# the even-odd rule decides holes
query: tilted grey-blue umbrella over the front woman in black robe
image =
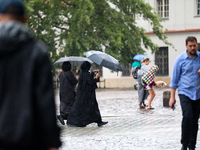
{"label": "tilted grey-blue umbrella over the front woman in black robe", "polygon": [[122,67],[118,60],[106,53],[91,50],[85,52],[84,54],[87,58],[100,66],[106,67],[113,71],[122,71]]}

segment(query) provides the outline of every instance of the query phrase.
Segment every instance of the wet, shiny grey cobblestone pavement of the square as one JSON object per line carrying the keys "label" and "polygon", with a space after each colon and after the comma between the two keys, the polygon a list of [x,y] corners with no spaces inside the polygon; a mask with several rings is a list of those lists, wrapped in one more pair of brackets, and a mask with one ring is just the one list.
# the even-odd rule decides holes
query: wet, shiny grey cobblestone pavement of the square
{"label": "wet, shiny grey cobblestone pavement of the square", "polygon": [[[181,108],[176,95],[176,109],[163,107],[163,91],[155,89],[154,110],[139,109],[133,89],[97,89],[96,96],[103,121],[84,128],[63,126],[60,150],[180,150]],[[147,102],[146,102],[147,103]],[[57,112],[59,95],[56,91]],[[196,150],[200,150],[198,134]]]}

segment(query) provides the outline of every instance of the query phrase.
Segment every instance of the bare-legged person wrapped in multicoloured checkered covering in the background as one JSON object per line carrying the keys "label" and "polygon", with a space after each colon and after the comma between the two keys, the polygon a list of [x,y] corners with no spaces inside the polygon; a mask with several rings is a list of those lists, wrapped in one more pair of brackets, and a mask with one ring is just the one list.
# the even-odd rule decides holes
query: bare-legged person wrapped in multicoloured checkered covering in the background
{"label": "bare-legged person wrapped in multicoloured checkered covering in the background", "polygon": [[154,78],[155,78],[155,74],[158,70],[159,70],[159,68],[157,65],[151,66],[151,68],[142,76],[142,79],[141,79],[142,85],[149,92],[149,101],[148,101],[147,109],[154,109],[151,106],[151,102],[153,101],[154,97],[156,96],[153,86],[156,86],[156,83],[154,82]]}

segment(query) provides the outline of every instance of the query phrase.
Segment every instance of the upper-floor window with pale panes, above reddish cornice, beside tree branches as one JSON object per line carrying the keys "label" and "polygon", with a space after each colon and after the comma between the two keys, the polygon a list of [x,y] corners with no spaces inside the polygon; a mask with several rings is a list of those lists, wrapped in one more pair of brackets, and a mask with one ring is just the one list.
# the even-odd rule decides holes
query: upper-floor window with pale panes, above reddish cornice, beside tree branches
{"label": "upper-floor window with pale panes, above reddish cornice, beside tree branches", "polygon": [[157,9],[162,18],[169,18],[169,0],[157,0]]}

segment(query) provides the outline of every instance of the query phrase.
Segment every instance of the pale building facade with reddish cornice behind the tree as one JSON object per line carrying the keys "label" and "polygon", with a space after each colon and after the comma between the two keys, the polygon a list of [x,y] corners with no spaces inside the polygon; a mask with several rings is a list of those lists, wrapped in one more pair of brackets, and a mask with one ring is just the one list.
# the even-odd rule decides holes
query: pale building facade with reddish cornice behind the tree
{"label": "pale building facade with reddish cornice behind the tree", "polygon": [[[174,45],[174,48],[165,45],[153,34],[151,25],[142,17],[136,16],[138,25],[143,27],[151,40],[159,46],[159,51],[153,54],[150,50],[146,50],[146,55],[151,59],[149,67],[156,64],[160,68],[155,80],[165,81],[169,85],[174,61],[186,50],[185,39],[188,36],[195,36],[200,43],[200,0],[146,0],[146,2],[162,17],[168,41]],[[200,48],[200,44],[198,45]],[[105,84],[106,88],[132,88],[135,84],[135,80],[129,75],[112,72],[104,67],[101,81],[105,81],[101,83],[101,87]]]}

